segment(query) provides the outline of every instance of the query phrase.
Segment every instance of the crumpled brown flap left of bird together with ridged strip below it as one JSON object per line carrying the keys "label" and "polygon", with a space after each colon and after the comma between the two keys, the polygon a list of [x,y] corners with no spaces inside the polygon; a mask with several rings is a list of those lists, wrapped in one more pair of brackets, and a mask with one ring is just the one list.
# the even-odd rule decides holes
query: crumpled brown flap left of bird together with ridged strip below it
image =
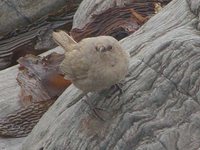
{"label": "crumpled brown flap left of bird together with ridged strip below it", "polygon": [[44,58],[27,55],[18,60],[21,108],[0,119],[1,136],[26,136],[71,84],[59,73],[59,64],[63,59],[64,55],[52,53]]}

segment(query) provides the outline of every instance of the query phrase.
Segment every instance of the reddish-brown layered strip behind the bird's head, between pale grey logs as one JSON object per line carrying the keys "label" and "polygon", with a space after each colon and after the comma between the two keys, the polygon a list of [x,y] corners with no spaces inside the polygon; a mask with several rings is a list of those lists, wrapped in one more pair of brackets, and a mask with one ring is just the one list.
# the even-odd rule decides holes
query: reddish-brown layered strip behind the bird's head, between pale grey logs
{"label": "reddish-brown layered strip behind the bird's head, between pale grey logs", "polygon": [[[166,1],[133,1],[124,7],[113,7],[101,14],[94,15],[83,29],[74,28],[71,35],[76,41],[85,37],[111,35],[120,40],[138,30],[157,12],[156,6]],[[168,0],[169,2],[169,0]]]}

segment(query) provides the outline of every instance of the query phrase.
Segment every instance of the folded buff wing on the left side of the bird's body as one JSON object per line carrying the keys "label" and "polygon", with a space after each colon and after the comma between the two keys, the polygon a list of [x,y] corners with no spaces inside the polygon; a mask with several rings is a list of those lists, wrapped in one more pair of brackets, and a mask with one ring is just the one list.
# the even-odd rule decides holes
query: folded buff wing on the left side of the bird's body
{"label": "folded buff wing on the left side of the bird's body", "polygon": [[89,64],[80,51],[73,50],[65,54],[65,59],[61,63],[60,69],[66,79],[85,79],[88,77]]}

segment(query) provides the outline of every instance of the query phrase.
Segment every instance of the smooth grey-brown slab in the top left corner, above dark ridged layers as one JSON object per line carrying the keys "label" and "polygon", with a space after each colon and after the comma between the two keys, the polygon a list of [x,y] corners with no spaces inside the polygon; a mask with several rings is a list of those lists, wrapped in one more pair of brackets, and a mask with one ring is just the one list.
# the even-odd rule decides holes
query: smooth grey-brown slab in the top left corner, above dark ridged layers
{"label": "smooth grey-brown slab in the top left corner, above dark ridged layers", "polygon": [[16,28],[24,27],[48,13],[73,5],[81,0],[3,0],[0,1],[0,36]]}

